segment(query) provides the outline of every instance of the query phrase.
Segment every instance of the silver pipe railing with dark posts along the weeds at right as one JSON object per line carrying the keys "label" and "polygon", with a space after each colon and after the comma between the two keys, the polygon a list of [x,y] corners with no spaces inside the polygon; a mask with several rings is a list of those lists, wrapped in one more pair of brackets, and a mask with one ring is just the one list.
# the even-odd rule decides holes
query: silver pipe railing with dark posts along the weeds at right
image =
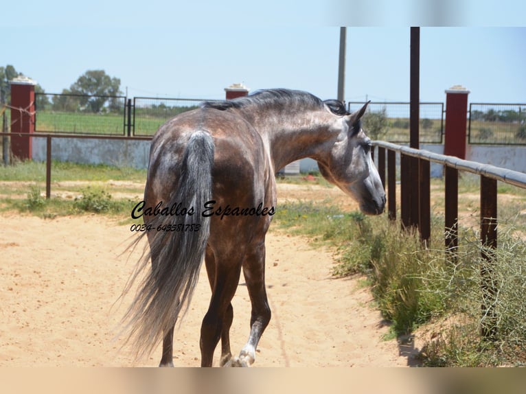
{"label": "silver pipe railing with dark posts along the weeds at right", "polygon": [[[483,246],[481,257],[490,266],[496,264],[492,253],[488,250],[495,249],[497,246],[497,181],[514,185],[526,189],[526,174],[507,170],[494,165],[481,164],[473,161],[458,159],[457,157],[445,156],[400,146],[385,141],[373,141],[373,145],[378,149],[378,172],[382,183],[385,186],[385,175],[387,167],[387,209],[389,218],[396,220],[396,154],[400,154],[400,161],[412,160],[412,165],[419,169],[418,187],[401,174],[400,184],[400,211],[402,213],[402,223],[417,223],[420,236],[424,242],[428,242],[431,234],[431,192],[430,192],[430,172],[429,162],[444,165],[445,174],[445,247],[446,250],[455,254],[458,246],[458,179],[459,171],[477,174],[481,179],[480,187],[480,233],[481,244]],[[387,150],[387,166],[386,166]],[[409,198],[404,198],[409,196]],[[409,201],[411,207],[405,207]],[[415,208],[416,207],[416,211]],[[408,218],[407,216],[415,216]],[[497,294],[495,283],[489,275],[488,268],[481,269],[481,288],[483,294]],[[492,296],[491,296],[492,297]],[[490,318],[483,319],[481,334],[486,338],[494,338],[496,332],[496,314],[494,312],[494,299],[486,297],[482,302],[483,316]],[[496,296],[495,296],[496,297]]]}

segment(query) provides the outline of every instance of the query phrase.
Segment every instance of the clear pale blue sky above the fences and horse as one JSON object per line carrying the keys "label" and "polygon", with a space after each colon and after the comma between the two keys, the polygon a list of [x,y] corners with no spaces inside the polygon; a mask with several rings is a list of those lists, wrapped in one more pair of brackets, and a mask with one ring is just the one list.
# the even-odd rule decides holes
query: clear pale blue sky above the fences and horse
{"label": "clear pale blue sky above the fences and horse", "polygon": [[13,3],[0,18],[0,66],[47,93],[103,69],[128,97],[221,99],[240,82],[336,98],[339,26],[353,25],[345,100],[407,102],[409,26],[420,25],[421,101],[444,102],[461,84],[470,102],[526,102],[526,5],[508,0]]}

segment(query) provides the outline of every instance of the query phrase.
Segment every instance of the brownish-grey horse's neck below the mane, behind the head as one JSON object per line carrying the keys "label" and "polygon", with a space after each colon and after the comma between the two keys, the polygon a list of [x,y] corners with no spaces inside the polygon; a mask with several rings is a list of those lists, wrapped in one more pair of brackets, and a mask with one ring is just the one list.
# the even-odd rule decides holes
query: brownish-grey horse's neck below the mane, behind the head
{"label": "brownish-grey horse's neck below the mane, behind the head", "polygon": [[323,152],[334,143],[331,121],[334,122],[334,117],[321,112],[289,119],[268,115],[251,119],[263,138],[275,171],[306,157],[323,160]]}

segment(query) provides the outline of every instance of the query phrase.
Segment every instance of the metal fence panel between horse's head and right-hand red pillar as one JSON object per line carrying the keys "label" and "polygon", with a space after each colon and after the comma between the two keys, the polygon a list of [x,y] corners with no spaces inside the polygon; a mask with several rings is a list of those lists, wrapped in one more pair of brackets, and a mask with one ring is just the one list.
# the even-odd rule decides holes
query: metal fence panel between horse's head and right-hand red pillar
{"label": "metal fence panel between horse's head and right-hand red pillar", "polygon": [[[348,111],[363,106],[349,102]],[[409,143],[409,102],[371,102],[363,117],[363,127],[371,139]],[[420,142],[442,143],[444,135],[444,103],[420,103]]]}

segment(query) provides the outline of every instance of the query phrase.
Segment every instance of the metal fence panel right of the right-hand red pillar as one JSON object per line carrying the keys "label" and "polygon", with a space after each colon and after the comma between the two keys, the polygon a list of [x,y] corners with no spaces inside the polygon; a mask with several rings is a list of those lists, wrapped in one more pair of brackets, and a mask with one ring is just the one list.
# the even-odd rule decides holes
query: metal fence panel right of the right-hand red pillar
{"label": "metal fence panel right of the right-hand red pillar", "polygon": [[468,141],[526,145],[526,104],[470,103]]}

